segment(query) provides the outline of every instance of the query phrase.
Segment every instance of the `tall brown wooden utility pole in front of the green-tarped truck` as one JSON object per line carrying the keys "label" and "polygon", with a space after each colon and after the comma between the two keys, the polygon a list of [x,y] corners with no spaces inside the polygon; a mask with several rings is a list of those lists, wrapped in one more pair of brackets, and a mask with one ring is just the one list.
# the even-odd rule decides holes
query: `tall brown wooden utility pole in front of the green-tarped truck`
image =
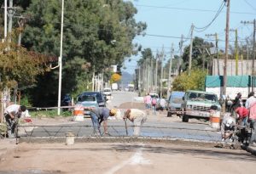
{"label": "tall brown wooden utility pole in front of the green-tarped truck", "polygon": [[[225,59],[224,59],[224,76],[223,76],[223,95],[226,96],[227,88],[227,62],[229,59],[229,34],[230,34],[230,0],[225,0],[227,6],[226,13],[226,34],[225,34]],[[226,110],[226,104],[223,104],[223,111]]]}

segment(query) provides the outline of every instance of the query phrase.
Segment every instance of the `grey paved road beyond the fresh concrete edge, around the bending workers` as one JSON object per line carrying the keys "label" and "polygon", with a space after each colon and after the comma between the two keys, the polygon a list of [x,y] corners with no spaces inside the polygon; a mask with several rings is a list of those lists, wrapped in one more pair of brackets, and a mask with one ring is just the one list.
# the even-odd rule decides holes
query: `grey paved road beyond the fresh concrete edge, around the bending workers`
{"label": "grey paved road beyond the fresh concrete edge, around the bending workers", "polygon": [[[137,93],[113,92],[113,98],[108,103],[109,108],[119,107],[120,104],[131,103],[136,108],[139,103],[134,101]],[[66,132],[74,132],[79,137],[89,137],[92,133],[90,118],[85,118],[82,122],[69,122],[67,124],[55,126],[37,126],[26,132],[26,136],[32,137],[64,137]],[[130,121],[127,121],[128,136],[132,135],[133,127]],[[109,120],[108,131],[111,136],[126,136],[125,122],[120,120]],[[32,127],[31,127],[32,128]],[[27,129],[28,127],[21,127]],[[142,128],[141,136],[154,138],[184,138],[202,141],[219,141],[220,134],[212,130],[207,122],[189,120],[184,123],[180,118],[173,116],[166,117],[166,113],[157,115],[148,115],[148,121]]]}

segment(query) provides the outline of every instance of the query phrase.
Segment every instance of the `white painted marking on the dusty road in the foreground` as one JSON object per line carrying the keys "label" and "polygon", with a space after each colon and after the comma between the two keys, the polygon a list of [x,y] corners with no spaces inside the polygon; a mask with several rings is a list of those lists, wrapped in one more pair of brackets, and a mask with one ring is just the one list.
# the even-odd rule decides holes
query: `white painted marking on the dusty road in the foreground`
{"label": "white painted marking on the dusty road in the foreground", "polygon": [[123,161],[117,166],[113,166],[109,171],[107,171],[105,174],[113,174],[116,171],[119,171],[119,169],[123,168],[126,165],[149,165],[151,164],[150,160],[146,160],[143,158],[143,149],[144,144],[140,143],[140,146],[142,146],[140,149],[137,149],[137,152],[131,156],[130,159]]}

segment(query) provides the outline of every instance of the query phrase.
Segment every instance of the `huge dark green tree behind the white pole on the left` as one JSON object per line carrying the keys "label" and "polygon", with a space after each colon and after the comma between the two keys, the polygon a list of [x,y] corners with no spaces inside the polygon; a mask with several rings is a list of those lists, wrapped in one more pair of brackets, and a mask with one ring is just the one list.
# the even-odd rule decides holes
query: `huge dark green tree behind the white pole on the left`
{"label": "huge dark green tree behind the white pole on the left", "polygon": [[[59,56],[61,30],[61,3],[56,0],[33,0],[26,6],[30,16],[22,38],[29,50]],[[65,1],[63,37],[62,93],[79,93],[89,85],[93,70],[107,72],[111,65],[122,65],[125,57],[136,54],[140,47],[132,39],[140,35],[146,24],[136,22],[137,9],[131,2],[122,0]],[[58,73],[38,76],[38,86],[30,93],[42,98],[55,98]],[[45,87],[47,84],[47,87]],[[40,98],[40,99],[39,99]]]}

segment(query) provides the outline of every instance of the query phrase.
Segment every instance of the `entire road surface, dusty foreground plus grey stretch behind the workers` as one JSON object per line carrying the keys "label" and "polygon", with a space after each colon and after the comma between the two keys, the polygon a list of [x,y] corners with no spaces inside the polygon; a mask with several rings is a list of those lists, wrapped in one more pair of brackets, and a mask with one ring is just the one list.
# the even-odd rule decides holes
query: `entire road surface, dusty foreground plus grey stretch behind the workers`
{"label": "entire road surface, dusty foreground plus grey stretch behind the workers", "polygon": [[[108,106],[123,107],[142,105],[134,101],[136,93],[113,93]],[[131,104],[132,103],[132,104]],[[148,115],[148,121],[142,128],[142,139],[177,138],[177,141],[145,141],[141,138],[128,138],[132,135],[132,124],[128,122],[128,133],[125,133],[124,121],[109,120],[108,129],[116,141],[112,143],[86,141],[92,131],[90,118],[85,121],[36,121],[34,129],[29,126],[28,137],[21,137],[17,145],[0,140],[0,174],[57,174],[57,173],[90,173],[90,174],[131,174],[131,173],[254,173],[256,159],[241,149],[219,149],[215,141],[220,139],[219,132],[212,130],[207,122],[189,120],[183,123],[180,118],[166,117],[166,113]],[[23,131],[24,132],[24,131]],[[66,145],[67,139],[61,138],[57,143],[51,139],[64,137],[66,132],[75,132],[73,145]],[[30,135],[29,135],[30,134]],[[34,141],[26,143],[29,137]],[[46,137],[46,141],[40,141]],[[111,138],[111,137],[110,137]],[[31,138],[33,139],[33,138]],[[84,139],[87,143],[82,143]],[[91,139],[91,138],[90,138]],[[106,138],[102,138],[106,139]],[[7,139],[8,140],[8,139]],[[38,141],[37,141],[38,140]],[[151,139],[152,140],[152,139]],[[197,141],[188,141],[197,140]],[[2,141],[2,142],[1,142]],[[212,142],[213,143],[205,143]],[[202,143],[204,142],[204,143]],[[7,148],[8,147],[8,148]],[[5,153],[3,153],[5,151]]]}

